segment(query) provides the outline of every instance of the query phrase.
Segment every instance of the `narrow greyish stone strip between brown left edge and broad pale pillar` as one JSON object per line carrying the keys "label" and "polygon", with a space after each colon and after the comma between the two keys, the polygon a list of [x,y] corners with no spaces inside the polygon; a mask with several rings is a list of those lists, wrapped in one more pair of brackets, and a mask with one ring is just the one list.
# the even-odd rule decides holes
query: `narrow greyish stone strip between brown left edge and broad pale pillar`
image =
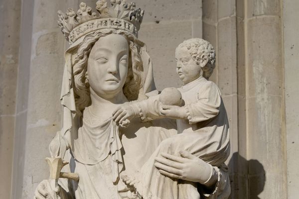
{"label": "narrow greyish stone strip between brown left edge and broad pale pillar", "polygon": [[[32,37],[32,15],[33,0],[27,0],[22,5],[20,16],[20,35],[19,42],[19,66],[17,72],[17,89],[16,89],[16,117],[13,145],[13,166],[12,166],[12,183],[11,199],[21,199],[23,187],[23,171],[25,156],[26,140],[26,117],[28,102],[28,86],[31,59],[31,37]],[[11,11],[11,10],[10,10]],[[40,141],[40,140],[38,140]],[[32,182],[32,181],[30,181]]]}

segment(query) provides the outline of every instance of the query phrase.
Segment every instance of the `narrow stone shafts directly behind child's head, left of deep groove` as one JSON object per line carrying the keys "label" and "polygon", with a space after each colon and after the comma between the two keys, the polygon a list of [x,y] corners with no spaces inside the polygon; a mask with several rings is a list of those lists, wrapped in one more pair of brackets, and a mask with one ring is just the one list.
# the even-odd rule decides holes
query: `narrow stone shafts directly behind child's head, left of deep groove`
{"label": "narrow stone shafts directly behind child's head, left of deep groove", "polygon": [[235,190],[239,190],[236,1],[202,2],[203,39],[211,42],[216,50],[216,68],[210,80],[218,85],[229,117],[231,155],[227,164],[230,168],[231,198],[235,199]]}

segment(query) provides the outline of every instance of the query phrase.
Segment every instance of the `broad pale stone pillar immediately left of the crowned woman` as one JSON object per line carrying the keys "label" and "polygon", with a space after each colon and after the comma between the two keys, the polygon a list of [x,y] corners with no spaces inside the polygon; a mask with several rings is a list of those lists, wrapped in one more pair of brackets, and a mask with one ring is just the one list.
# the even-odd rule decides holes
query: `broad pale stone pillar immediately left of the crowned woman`
{"label": "broad pale stone pillar immediately left of the crowned woman", "polygon": [[[26,93],[28,103],[25,104],[26,122],[19,127],[21,129],[19,133],[25,131],[23,140],[19,141],[20,145],[24,145],[23,151],[25,151],[24,162],[20,162],[23,164],[23,171],[19,171],[19,174],[22,174],[22,187],[17,187],[15,199],[32,199],[40,181],[49,178],[45,157],[49,156],[50,141],[61,128],[62,109],[59,98],[66,42],[57,26],[57,10],[66,10],[67,1],[32,2],[34,4],[31,7],[33,26],[30,68],[27,69],[30,73]],[[78,2],[74,8],[78,8]],[[21,77],[19,79],[23,80]]]}

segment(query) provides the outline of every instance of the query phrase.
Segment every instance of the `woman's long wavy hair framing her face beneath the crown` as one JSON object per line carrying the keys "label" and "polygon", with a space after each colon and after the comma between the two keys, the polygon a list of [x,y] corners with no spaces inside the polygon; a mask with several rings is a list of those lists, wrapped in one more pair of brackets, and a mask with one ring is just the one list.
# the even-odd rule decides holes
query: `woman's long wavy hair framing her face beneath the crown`
{"label": "woman's long wavy hair framing her face beneath the crown", "polygon": [[75,94],[75,103],[77,112],[82,114],[85,107],[91,104],[89,82],[87,78],[87,63],[89,53],[100,37],[109,34],[123,35],[129,44],[129,64],[128,75],[123,87],[123,92],[126,98],[137,100],[140,91],[143,87],[143,63],[140,56],[142,42],[139,41],[133,34],[124,30],[105,29],[99,30],[85,36],[84,40],[78,45],[77,51],[73,54],[73,89]]}

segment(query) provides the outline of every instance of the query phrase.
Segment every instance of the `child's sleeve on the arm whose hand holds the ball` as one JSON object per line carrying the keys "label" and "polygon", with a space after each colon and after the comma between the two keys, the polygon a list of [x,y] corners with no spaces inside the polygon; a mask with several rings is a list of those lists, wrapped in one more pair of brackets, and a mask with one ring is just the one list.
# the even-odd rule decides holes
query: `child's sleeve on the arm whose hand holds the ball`
{"label": "child's sleeve on the arm whose hand holds the ball", "polygon": [[190,124],[211,119],[218,115],[221,95],[213,82],[206,82],[197,93],[197,102],[185,105]]}

